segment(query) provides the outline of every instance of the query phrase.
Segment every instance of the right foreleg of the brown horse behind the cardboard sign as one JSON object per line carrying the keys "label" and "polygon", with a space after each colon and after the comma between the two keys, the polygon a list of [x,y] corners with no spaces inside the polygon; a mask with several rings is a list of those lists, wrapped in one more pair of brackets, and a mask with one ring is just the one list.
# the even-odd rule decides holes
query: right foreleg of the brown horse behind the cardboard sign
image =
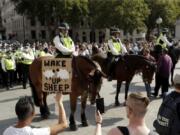
{"label": "right foreleg of the brown horse behind the cardboard sign", "polygon": [[85,114],[86,102],[87,102],[87,94],[84,94],[81,96],[81,122],[83,127],[88,126],[88,122]]}

